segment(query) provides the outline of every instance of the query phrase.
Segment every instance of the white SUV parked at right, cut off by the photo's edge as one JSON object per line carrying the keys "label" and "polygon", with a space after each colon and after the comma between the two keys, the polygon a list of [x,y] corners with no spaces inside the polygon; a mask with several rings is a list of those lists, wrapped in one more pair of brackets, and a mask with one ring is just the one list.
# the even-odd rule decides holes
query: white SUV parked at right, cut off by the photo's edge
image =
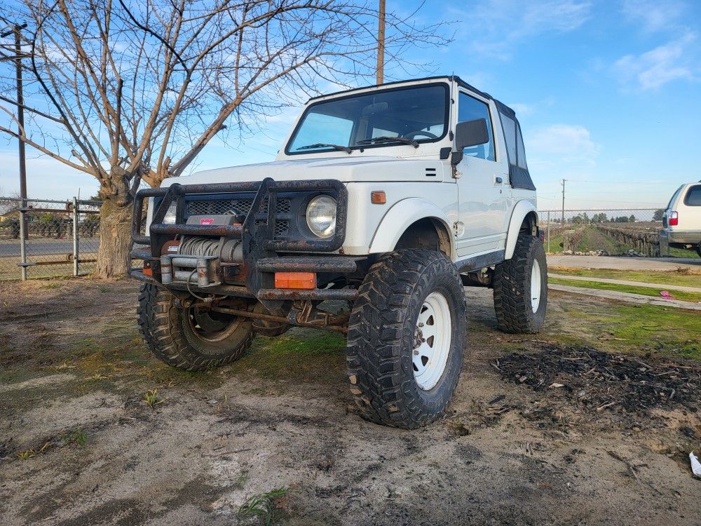
{"label": "white SUV parked at right, cut off by the photo's edge", "polygon": [[701,256],[701,181],[682,184],[662,215],[660,243],[694,248]]}

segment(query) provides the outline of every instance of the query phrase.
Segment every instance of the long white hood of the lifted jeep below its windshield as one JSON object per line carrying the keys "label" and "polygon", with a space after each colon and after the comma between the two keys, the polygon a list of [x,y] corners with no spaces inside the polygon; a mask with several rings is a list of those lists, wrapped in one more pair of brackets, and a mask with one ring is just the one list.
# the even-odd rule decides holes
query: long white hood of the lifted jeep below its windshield
{"label": "long white hood of the lifted jeep below its windshield", "polygon": [[[344,154],[345,155],[345,154]],[[428,173],[426,168],[434,168]],[[402,182],[443,180],[444,163],[436,159],[402,159],[389,156],[338,156],[319,159],[294,159],[271,163],[247,164],[204,170],[188,177],[173,177],[163,181],[163,187],[174,182],[203,184],[217,182],[261,181],[272,177],[275,181],[335,179],[341,182]],[[435,173],[435,176],[433,174]]]}

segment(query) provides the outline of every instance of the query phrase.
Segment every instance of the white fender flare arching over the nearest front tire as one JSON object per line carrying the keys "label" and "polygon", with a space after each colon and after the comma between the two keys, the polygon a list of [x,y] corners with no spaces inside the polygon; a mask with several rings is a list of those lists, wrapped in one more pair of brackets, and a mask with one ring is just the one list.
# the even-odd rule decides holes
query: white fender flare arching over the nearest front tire
{"label": "white fender flare arching over the nearest front tire", "polygon": [[372,237],[369,253],[392,252],[404,231],[411,224],[422,219],[438,221],[447,229],[450,238],[450,256],[455,259],[455,236],[452,234],[448,216],[434,203],[418,197],[402,199],[392,205]]}

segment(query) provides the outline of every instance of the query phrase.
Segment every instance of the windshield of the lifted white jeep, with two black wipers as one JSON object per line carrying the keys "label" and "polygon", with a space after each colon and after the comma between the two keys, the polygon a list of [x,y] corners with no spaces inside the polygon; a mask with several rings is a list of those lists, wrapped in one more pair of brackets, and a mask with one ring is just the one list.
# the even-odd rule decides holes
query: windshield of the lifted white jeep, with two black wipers
{"label": "windshield of the lifted white jeep, with two black wipers", "polygon": [[448,86],[393,88],[311,104],[285,153],[435,142],[447,133]]}

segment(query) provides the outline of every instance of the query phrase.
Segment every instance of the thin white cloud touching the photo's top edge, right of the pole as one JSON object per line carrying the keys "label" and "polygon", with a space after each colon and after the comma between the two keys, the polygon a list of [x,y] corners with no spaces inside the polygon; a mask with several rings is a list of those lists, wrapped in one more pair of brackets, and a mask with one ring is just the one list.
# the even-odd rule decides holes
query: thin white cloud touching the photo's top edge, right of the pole
{"label": "thin white cloud touching the photo's top edge, right of the pole", "polygon": [[577,29],[590,18],[591,7],[590,1],[577,0],[488,0],[469,10],[449,11],[463,21],[475,52],[508,60],[519,41]]}

